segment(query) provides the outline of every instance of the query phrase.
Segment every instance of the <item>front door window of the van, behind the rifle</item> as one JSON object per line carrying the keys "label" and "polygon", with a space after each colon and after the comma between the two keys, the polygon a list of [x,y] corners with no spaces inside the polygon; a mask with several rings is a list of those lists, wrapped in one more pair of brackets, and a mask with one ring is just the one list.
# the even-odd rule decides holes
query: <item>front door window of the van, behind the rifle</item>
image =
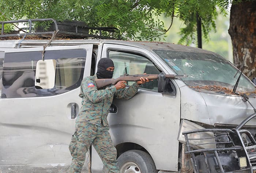
{"label": "front door window of the van, behind the rifle", "polygon": [[[115,70],[113,78],[117,78],[123,74],[159,74],[157,67],[147,58],[119,51],[109,51],[109,58],[113,60]],[[132,85],[133,82],[129,81],[127,84]],[[140,85],[140,88],[158,91],[158,81],[153,80]]]}

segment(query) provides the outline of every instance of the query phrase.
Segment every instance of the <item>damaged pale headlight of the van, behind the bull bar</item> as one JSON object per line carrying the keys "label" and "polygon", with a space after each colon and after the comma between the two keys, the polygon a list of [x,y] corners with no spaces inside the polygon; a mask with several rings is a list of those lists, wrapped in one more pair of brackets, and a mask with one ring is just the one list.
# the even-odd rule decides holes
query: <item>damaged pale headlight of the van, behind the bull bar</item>
{"label": "damaged pale headlight of the van, behind the bull bar", "polygon": [[[180,130],[178,132],[178,141],[181,143],[186,143],[184,135],[182,132],[203,129],[204,127],[199,126],[196,123],[192,123],[188,120],[181,120]],[[210,149],[216,148],[215,137],[213,132],[196,132],[188,134],[190,145],[194,145],[197,149]]]}

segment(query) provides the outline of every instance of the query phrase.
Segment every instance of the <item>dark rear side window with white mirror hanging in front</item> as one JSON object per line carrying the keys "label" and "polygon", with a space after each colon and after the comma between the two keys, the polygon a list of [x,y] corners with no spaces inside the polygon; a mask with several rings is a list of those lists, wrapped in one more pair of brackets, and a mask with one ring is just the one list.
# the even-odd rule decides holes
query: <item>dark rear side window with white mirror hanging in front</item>
{"label": "dark rear side window with white mirror hanging in front", "polygon": [[52,96],[78,88],[83,79],[86,50],[6,53],[2,98]]}

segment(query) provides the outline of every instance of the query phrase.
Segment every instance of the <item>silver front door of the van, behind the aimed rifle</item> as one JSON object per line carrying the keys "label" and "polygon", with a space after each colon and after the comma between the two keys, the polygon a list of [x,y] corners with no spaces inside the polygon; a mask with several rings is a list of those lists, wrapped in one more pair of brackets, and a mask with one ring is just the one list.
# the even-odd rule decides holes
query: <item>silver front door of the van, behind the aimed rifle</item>
{"label": "silver front door of the van, behind the aimed rifle", "polygon": [[[105,57],[114,61],[113,78],[124,73],[168,74],[153,55],[138,47],[104,44]],[[140,149],[151,155],[157,169],[177,171],[180,91],[175,83],[168,94],[158,93],[157,88],[157,81],[151,81],[141,85],[132,99],[115,99],[108,116],[110,134],[118,155]]]}

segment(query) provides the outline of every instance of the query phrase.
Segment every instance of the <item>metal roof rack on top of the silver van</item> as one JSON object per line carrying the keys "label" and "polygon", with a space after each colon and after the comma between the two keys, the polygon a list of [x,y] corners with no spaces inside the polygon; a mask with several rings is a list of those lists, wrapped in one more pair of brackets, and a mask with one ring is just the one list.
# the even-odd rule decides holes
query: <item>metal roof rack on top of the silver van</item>
{"label": "metal roof rack on top of the silver van", "polygon": [[[44,30],[44,28],[33,28],[33,22],[45,22],[52,21],[51,26]],[[24,31],[24,33],[4,33],[4,24],[7,23],[28,23],[27,28],[20,28],[19,30]],[[42,37],[52,37],[49,35],[53,35],[54,31],[57,31],[56,37],[61,38],[97,38],[97,39],[120,39],[120,35],[118,34],[118,29],[115,27],[89,27],[86,26],[84,22],[80,21],[68,21],[65,20],[63,22],[57,22],[54,19],[25,19],[25,20],[12,20],[12,21],[2,21],[0,22],[1,27],[1,35],[0,38],[13,37],[13,36],[27,36],[27,35],[40,35]],[[14,24],[15,25],[15,24]],[[105,36],[103,35],[105,34]],[[118,38],[114,38],[112,35],[117,35]]]}

